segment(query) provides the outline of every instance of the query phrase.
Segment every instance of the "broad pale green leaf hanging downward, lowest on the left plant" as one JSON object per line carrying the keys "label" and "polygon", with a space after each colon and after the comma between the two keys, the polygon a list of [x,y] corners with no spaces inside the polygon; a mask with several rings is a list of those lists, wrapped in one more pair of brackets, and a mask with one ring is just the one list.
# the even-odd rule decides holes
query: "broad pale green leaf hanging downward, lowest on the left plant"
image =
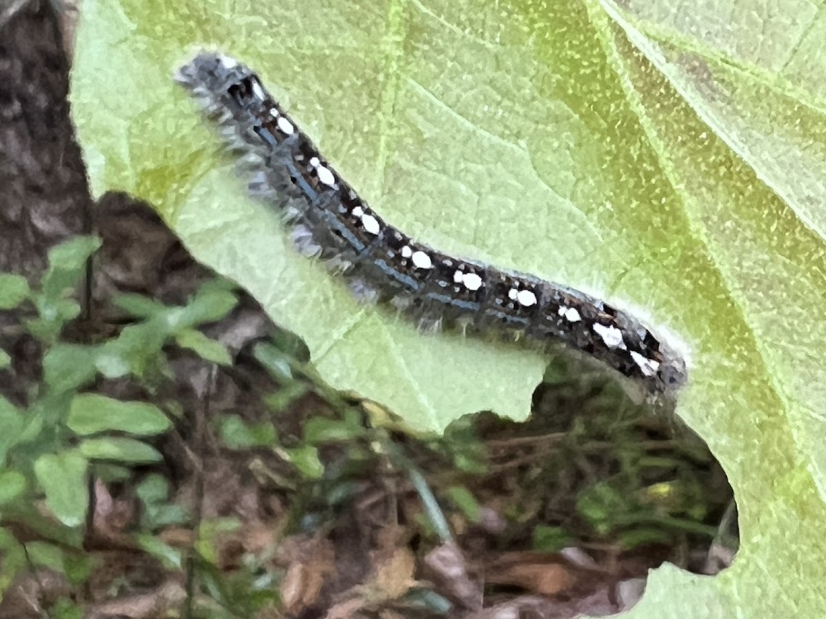
{"label": "broad pale green leaf hanging downward, lowest on the left plant", "polygon": [[46,506],[67,527],[79,527],[89,505],[88,461],[77,451],[45,454],[35,461],[35,475],[46,494]]}

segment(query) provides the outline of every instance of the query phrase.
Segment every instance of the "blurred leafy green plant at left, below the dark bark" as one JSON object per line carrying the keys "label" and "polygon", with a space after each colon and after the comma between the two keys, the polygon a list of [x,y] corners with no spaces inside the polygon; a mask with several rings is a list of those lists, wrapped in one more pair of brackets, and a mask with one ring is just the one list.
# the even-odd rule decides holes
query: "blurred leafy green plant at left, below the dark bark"
{"label": "blurred leafy green plant at left, below the dark bark", "polygon": [[[131,314],[131,324],[99,341],[64,339],[67,325],[81,313],[78,282],[99,247],[97,238],[84,236],[52,248],[38,286],[0,274],[0,311],[14,318],[10,329],[31,337],[43,351],[41,380],[21,385],[11,354],[0,349],[0,385],[24,394],[17,404],[0,395],[0,592],[30,565],[55,569],[69,582],[82,580],[89,568],[79,552],[89,517],[89,481],[128,476],[123,467],[162,460],[152,441],[173,427],[170,411],[176,408],[104,395],[93,390],[100,380],[128,376],[145,393],[157,393],[172,376],[164,353],[169,343],[213,363],[230,363],[225,347],[197,330],[237,303],[232,286],[221,280],[207,281],[183,306],[117,295],[112,302]],[[147,528],[183,521],[181,509],[165,502],[165,493],[156,478],[140,484]],[[21,525],[39,541],[24,547],[9,528]],[[146,536],[140,541],[163,554]]]}

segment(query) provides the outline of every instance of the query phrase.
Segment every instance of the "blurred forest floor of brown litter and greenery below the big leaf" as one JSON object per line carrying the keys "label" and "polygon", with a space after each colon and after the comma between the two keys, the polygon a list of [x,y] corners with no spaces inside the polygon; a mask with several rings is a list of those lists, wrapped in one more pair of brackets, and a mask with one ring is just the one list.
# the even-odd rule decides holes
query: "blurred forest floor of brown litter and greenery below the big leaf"
{"label": "blurred forest floor of brown litter and greenery below the big leaf", "polygon": [[599,616],[632,607],[665,561],[714,574],[733,559],[736,509],[705,444],[591,367],[555,360],[526,423],[479,413],[417,436],[327,387],[301,341],[216,284],[148,207],[107,196],[97,214],[91,318],[64,335],[117,338],[137,314],[208,298],[224,309],[173,314],[206,315],[188,342],[219,343],[231,362],[167,344],[140,378],[94,380],[169,414],[152,442],[163,461],[98,462],[85,585],[31,569],[0,617],[67,597],[87,617]]}

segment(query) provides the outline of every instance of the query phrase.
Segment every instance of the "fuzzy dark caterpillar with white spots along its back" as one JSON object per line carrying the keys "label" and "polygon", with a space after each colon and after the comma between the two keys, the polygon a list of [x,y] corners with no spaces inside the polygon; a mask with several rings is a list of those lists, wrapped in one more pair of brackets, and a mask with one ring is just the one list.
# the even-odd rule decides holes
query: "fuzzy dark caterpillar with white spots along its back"
{"label": "fuzzy dark caterpillar with white spots along its back", "polygon": [[425,328],[565,343],[673,399],[686,363],[630,314],[567,286],[454,258],[377,215],[327,163],[258,75],[202,51],[175,74],[221,128],[249,191],[282,216],[298,251],[320,258],[359,300],[386,304]]}

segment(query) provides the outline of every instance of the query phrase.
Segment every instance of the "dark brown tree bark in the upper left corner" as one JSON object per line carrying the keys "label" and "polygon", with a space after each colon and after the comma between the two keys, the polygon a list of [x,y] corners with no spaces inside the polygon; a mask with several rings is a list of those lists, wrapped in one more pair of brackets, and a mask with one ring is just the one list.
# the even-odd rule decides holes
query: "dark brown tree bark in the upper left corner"
{"label": "dark brown tree bark in the upper left corner", "polygon": [[88,187],[68,88],[49,2],[0,26],[0,272],[36,276],[52,245],[84,229]]}

